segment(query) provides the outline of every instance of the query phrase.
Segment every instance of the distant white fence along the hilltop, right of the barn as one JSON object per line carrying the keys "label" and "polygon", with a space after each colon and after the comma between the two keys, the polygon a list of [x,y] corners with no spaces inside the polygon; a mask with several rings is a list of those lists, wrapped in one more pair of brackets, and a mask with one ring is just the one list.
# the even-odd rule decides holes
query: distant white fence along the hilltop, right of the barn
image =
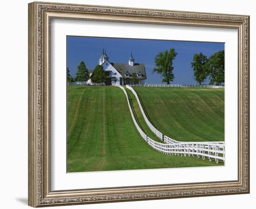
{"label": "distant white fence along the hilltop, right of the barn", "polygon": [[224,85],[181,85],[181,84],[129,84],[129,86],[143,86],[143,87],[197,87],[197,88],[215,88],[224,89]]}

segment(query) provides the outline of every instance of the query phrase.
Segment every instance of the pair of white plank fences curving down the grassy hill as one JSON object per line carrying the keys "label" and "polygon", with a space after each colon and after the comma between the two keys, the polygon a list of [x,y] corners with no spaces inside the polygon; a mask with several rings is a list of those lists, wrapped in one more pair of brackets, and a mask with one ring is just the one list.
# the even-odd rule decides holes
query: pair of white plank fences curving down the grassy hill
{"label": "pair of white plank fences curving down the grassy hill", "polygon": [[159,137],[162,141],[164,141],[164,143],[159,143],[149,138],[147,134],[141,130],[140,126],[138,125],[135,119],[126,90],[121,85],[115,85],[115,86],[118,86],[119,88],[121,88],[124,94],[126,95],[128,107],[129,107],[133,122],[135,124],[135,127],[141,134],[141,137],[155,150],[158,150],[168,155],[173,154],[173,155],[184,155],[184,156],[192,155],[197,157],[202,156],[203,159],[205,159],[205,157],[208,157],[209,161],[213,159],[216,161],[216,163],[218,163],[219,160],[223,160],[223,161],[225,160],[225,143],[224,142],[179,142],[170,137],[163,135],[162,132],[158,131],[153,126],[153,124],[149,122],[141,106],[141,102],[138,98],[137,93],[129,85],[126,85],[126,87],[134,93],[135,98],[137,99],[137,102],[139,104],[141,113],[143,115],[143,118],[146,121],[148,127],[157,137]]}

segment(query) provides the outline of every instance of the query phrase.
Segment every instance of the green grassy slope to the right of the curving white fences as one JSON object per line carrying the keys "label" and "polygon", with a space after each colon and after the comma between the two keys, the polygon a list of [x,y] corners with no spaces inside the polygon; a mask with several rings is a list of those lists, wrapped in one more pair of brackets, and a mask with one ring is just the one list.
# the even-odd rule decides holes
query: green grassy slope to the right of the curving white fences
{"label": "green grassy slope to the right of the curving white fences", "polygon": [[178,141],[224,141],[224,89],[135,87],[149,120]]}

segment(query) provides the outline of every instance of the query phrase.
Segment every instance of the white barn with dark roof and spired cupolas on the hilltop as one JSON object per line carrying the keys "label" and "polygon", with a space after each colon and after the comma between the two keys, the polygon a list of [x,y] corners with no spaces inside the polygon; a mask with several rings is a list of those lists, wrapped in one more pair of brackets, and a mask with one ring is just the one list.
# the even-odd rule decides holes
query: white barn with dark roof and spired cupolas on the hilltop
{"label": "white barn with dark roof and spired cupolas on the hilltop", "polygon": [[[101,57],[99,58],[99,65],[103,67],[103,70],[106,72],[107,81],[106,85],[126,85],[134,84],[133,73],[137,75],[138,84],[145,84],[147,79],[145,65],[141,63],[135,63],[134,58],[131,56],[128,59],[128,63],[113,63],[109,62],[108,55],[106,50],[102,50]],[[93,70],[89,70],[90,76],[93,73]],[[87,84],[91,83],[91,79],[87,81]]]}

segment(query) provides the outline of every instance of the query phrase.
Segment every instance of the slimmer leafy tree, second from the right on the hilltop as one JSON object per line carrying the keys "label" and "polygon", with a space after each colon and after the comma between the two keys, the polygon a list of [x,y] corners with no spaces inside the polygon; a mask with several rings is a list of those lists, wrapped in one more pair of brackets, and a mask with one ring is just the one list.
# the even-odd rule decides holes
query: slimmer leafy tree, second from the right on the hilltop
{"label": "slimmer leafy tree, second from the right on the hilltop", "polygon": [[207,69],[206,64],[207,57],[204,56],[201,52],[199,54],[195,53],[193,61],[191,62],[191,67],[194,70],[195,80],[201,85],[201,83],[207,78]]}

